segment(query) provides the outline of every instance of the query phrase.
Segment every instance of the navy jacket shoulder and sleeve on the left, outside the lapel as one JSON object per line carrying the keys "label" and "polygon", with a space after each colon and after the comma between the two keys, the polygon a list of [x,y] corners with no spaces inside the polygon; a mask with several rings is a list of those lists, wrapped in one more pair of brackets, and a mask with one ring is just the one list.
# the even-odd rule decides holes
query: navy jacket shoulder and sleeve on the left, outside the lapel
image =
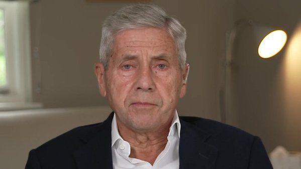
{"label": "navy jacket shoulder and sleeve on the left, outside the lapel", "polygon": [[[73,128],[32,149],[29,156],[36,156],[45,168],[75,168],[73,152],[85,143],[82,138],[91,139],[102,125],[103,122]],[[28,163],[31,162],[29,159]]]}

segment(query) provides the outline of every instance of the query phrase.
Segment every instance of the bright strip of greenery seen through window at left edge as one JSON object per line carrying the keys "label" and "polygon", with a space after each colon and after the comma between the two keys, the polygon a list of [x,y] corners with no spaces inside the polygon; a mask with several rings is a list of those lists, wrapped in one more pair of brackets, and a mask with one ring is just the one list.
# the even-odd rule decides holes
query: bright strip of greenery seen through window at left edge
{"label": "bright strip of greenery seen through window at left edge", "polygon": [[6,57],[5,57],[5,22],[4,11],[0,10],[0,87],[5,86],[6,79]]}

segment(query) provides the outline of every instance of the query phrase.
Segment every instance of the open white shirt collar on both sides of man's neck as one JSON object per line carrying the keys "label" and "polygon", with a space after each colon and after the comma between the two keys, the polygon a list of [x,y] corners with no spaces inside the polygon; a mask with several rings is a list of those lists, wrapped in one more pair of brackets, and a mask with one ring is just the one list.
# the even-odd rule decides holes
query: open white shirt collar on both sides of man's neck
{"label": "open white shirt collar on both sides of man's neck", "polygon": [[[176,130],[174,128],[176,128]],[[180,130],[181,130],[181,123],[180,123],[180,119],[178,116],[178,112],[177,112],[177,110],[175,110],[171,125],[169,127],[168,136],[172,135],[174,132],[177,132],[178,137],[180,138]],[[113,147],[113,145],[116,143],[117,140],[119,140],[119,139],[123,140],[123,138],[120,136],[119,131],[118,131],[115,113],[114,113],[114,117],[112,119],[112,131],[111,132],[112,132],[112,145],[111,146]]]}

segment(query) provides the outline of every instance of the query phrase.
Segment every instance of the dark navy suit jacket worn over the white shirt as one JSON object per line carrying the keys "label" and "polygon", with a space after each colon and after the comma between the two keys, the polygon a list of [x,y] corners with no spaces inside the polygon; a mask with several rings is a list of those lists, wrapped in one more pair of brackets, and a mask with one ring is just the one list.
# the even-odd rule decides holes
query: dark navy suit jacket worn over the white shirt
{"label": "dark navy suit jacket worn over the white shirt", "polygon": [[[74,128],[29,152],[26,169],[113,169],[111,122]],[[259,137],[198,117],[180,117],[180,169],[270,169]],[[172,169],[172,168],[171,168]]]}

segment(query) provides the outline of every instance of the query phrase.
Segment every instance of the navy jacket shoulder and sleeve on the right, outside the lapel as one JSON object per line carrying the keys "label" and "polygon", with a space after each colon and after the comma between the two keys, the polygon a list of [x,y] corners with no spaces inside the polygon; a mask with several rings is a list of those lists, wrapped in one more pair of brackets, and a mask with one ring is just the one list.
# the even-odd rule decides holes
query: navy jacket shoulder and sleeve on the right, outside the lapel
{"label": "navy jacket shoulder and sleeve on the right, outside the lapel", "polygon": [[216,168],[271,168],[261,139],[242,129],[215,120],[180,117],[210,136],[205,143],[218,149]]}

